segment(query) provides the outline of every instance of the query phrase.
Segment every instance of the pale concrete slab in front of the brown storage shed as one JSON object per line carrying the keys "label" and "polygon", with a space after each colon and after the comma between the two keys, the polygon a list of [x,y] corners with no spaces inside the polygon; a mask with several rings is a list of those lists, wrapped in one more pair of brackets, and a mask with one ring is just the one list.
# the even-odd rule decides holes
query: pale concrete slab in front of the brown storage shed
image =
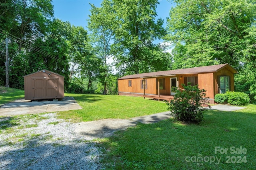
{"label": "pale concrete slab in front of the brown storage shed", "polygon": [[56,112],[82,109],[73,97],[64,97],[59,101],[30,102],[30,100],[16,100],[0,107],[0,116],[23,115],[43,112]]}

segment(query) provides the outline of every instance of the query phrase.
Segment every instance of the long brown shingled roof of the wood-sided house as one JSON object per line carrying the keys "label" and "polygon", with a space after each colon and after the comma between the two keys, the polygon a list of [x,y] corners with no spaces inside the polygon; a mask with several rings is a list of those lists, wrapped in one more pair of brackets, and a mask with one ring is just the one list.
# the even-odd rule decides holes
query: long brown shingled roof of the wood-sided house
{"label": "long brown shingled roof of the wood-sided house", "polygon": [[198,74],[204,72],[217,72],[223,68],[227,67],[233,74],[237,73],[237,71],[230,66],[230,64],[218,64],[212,66],[202,66],[202,67],[193,67],[193,68],[184,68],[179,70],[167,70],[167,71],[158,71],[158,72],[148,72],[142,74],[133,74],[128,76],[123,76],[118,78],[121,79],[132,79],[132,78],[153,78],[153,77],[161,77],[161,76],[175,76],[178,74]]}

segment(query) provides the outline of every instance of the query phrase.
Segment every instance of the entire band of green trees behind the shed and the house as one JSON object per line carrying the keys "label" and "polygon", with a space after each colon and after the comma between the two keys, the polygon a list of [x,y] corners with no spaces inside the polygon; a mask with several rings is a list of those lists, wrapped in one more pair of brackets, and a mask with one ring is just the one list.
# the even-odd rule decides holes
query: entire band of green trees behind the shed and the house
{"label": "entire band of green trees behind the shed and the house", "polygon": [[[256,0],[172,1],[166,28],[158,0],[89,4],[87,28],[54,18],[51,0],[1,1],[0,85],[7,37],[13,88],[23,88],[22,76],[48,69],[66,77],[65,90],[86,82],[86,90],[108,94],[116,92],[118,76],[229,63],[239,72],[235,90],[256,96]],[[170,43],[172,54],[164,45]]]}

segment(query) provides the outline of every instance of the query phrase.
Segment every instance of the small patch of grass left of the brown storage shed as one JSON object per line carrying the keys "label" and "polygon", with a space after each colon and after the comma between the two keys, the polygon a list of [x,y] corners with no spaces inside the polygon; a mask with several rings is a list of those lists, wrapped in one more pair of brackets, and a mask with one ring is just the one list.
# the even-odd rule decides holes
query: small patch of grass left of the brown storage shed
{"label": "small patch of grass left of the brown storage shed", "polygon": [[24,98],[24,90],[0,86],[0,106]]}

